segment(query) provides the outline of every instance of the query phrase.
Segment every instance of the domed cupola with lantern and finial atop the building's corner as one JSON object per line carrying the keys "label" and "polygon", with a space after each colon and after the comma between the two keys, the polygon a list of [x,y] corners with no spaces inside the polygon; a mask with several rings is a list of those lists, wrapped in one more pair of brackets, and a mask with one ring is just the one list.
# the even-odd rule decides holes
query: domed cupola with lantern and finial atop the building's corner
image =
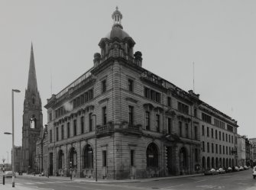
{"label": "domed cupola with lantern and finial atop the building's corner", "polygon": [[110,56],[121,56],[131,60],[138,66],[141,66],[141,52],[134,53],[134,40],[123,30],[122,13],[118,11],[118,7],[112,14],[113,26],[112,30],[103,37],[99,42],[101,53],[95,53],[94,66],[98,66],[100,60],[109,58]]}

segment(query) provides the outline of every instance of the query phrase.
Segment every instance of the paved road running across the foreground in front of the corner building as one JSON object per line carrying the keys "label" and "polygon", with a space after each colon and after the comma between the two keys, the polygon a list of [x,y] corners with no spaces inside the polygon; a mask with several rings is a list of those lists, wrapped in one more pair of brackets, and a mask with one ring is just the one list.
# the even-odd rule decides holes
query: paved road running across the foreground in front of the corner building
{"label": "paved road running across the foreground in front of the corner building", "polygon": [[[89,183],[70,182],[67,180],[28,178],[17,176],[16,186],[24,189],[34,188],[38,190],[211,190],[211,189],[232,189],[232,190],[256,190],[256,179],[252,178],[251,169],[232,172],[216,176],[196,176],[178,179],[164,179],[151,182],[131,182],[131,183]],[[0,179],[0,189],[5,189]],[[11,179],[6,179],[5,183],[11,184]]]}

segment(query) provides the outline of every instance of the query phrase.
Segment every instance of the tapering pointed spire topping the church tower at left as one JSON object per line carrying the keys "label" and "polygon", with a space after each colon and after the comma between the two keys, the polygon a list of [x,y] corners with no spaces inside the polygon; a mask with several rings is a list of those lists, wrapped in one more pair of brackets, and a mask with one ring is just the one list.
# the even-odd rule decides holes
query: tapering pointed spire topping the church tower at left
{"label": "tapering pointed spire topping the church tower at left", "polygon": [[37,92],[37,76],[36,69],[34,66],[34,51],[33,44],[31,42],[31,61],[29,64],[29,72],[28,72],[28,91]]}

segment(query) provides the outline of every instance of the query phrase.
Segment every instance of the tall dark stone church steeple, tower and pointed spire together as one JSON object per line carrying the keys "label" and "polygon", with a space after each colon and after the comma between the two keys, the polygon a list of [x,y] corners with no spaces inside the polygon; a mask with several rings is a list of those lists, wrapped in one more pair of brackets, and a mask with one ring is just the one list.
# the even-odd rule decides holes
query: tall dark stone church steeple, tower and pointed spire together
{"label": "tall dark stone church steeple, tower and pointed spire together", "polygon": [[34,51],[31,44],[31,60],[28,72],[28,88],[25,92],[23,127],[22,127],[22,150],[21,171],[34,172],[36,142],[43,128],[43,114],[40,94],[37,90],[37,76],[34,65]]}

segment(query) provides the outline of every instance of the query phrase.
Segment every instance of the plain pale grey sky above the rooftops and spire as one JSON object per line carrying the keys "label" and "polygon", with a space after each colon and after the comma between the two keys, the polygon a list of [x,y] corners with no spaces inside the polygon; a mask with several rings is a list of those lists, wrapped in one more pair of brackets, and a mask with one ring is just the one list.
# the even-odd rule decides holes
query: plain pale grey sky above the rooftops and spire
{"label": "plain pale grey sky above the rooftops and spire", "polygon": [[194,89],[238,121],[238,134],[256,137],[256,1],[0,0],[0,159],[11,162],[11,135],[4,134],[11,132],[11,89],[21,90],[15,93],[15,146],[21,146],[31,42],[47,124],[47,98],[93,66],[116,6],[145,69]]}

